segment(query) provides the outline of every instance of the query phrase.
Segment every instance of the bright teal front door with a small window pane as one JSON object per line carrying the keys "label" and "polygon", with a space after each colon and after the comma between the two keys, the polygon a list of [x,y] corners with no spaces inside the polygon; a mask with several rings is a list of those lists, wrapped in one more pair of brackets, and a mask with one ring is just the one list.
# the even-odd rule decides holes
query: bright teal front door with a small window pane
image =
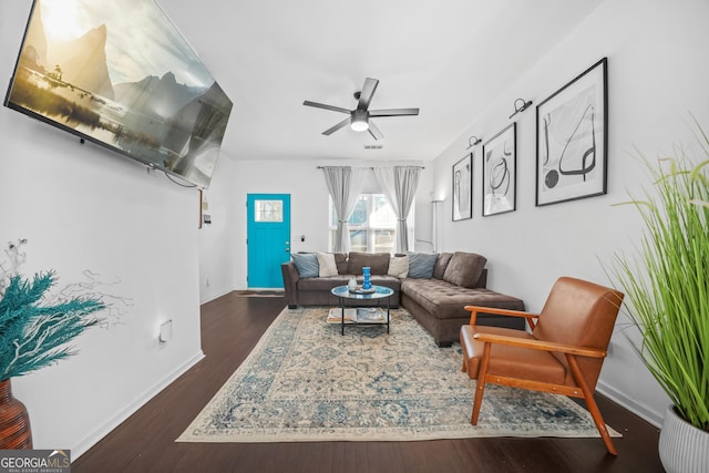
{"label": "bright teal front door with a small window pane", "polygon": [[290,260],[290,195],[248,194],[247,285],[254,289],[284,287],[280,265]]}

